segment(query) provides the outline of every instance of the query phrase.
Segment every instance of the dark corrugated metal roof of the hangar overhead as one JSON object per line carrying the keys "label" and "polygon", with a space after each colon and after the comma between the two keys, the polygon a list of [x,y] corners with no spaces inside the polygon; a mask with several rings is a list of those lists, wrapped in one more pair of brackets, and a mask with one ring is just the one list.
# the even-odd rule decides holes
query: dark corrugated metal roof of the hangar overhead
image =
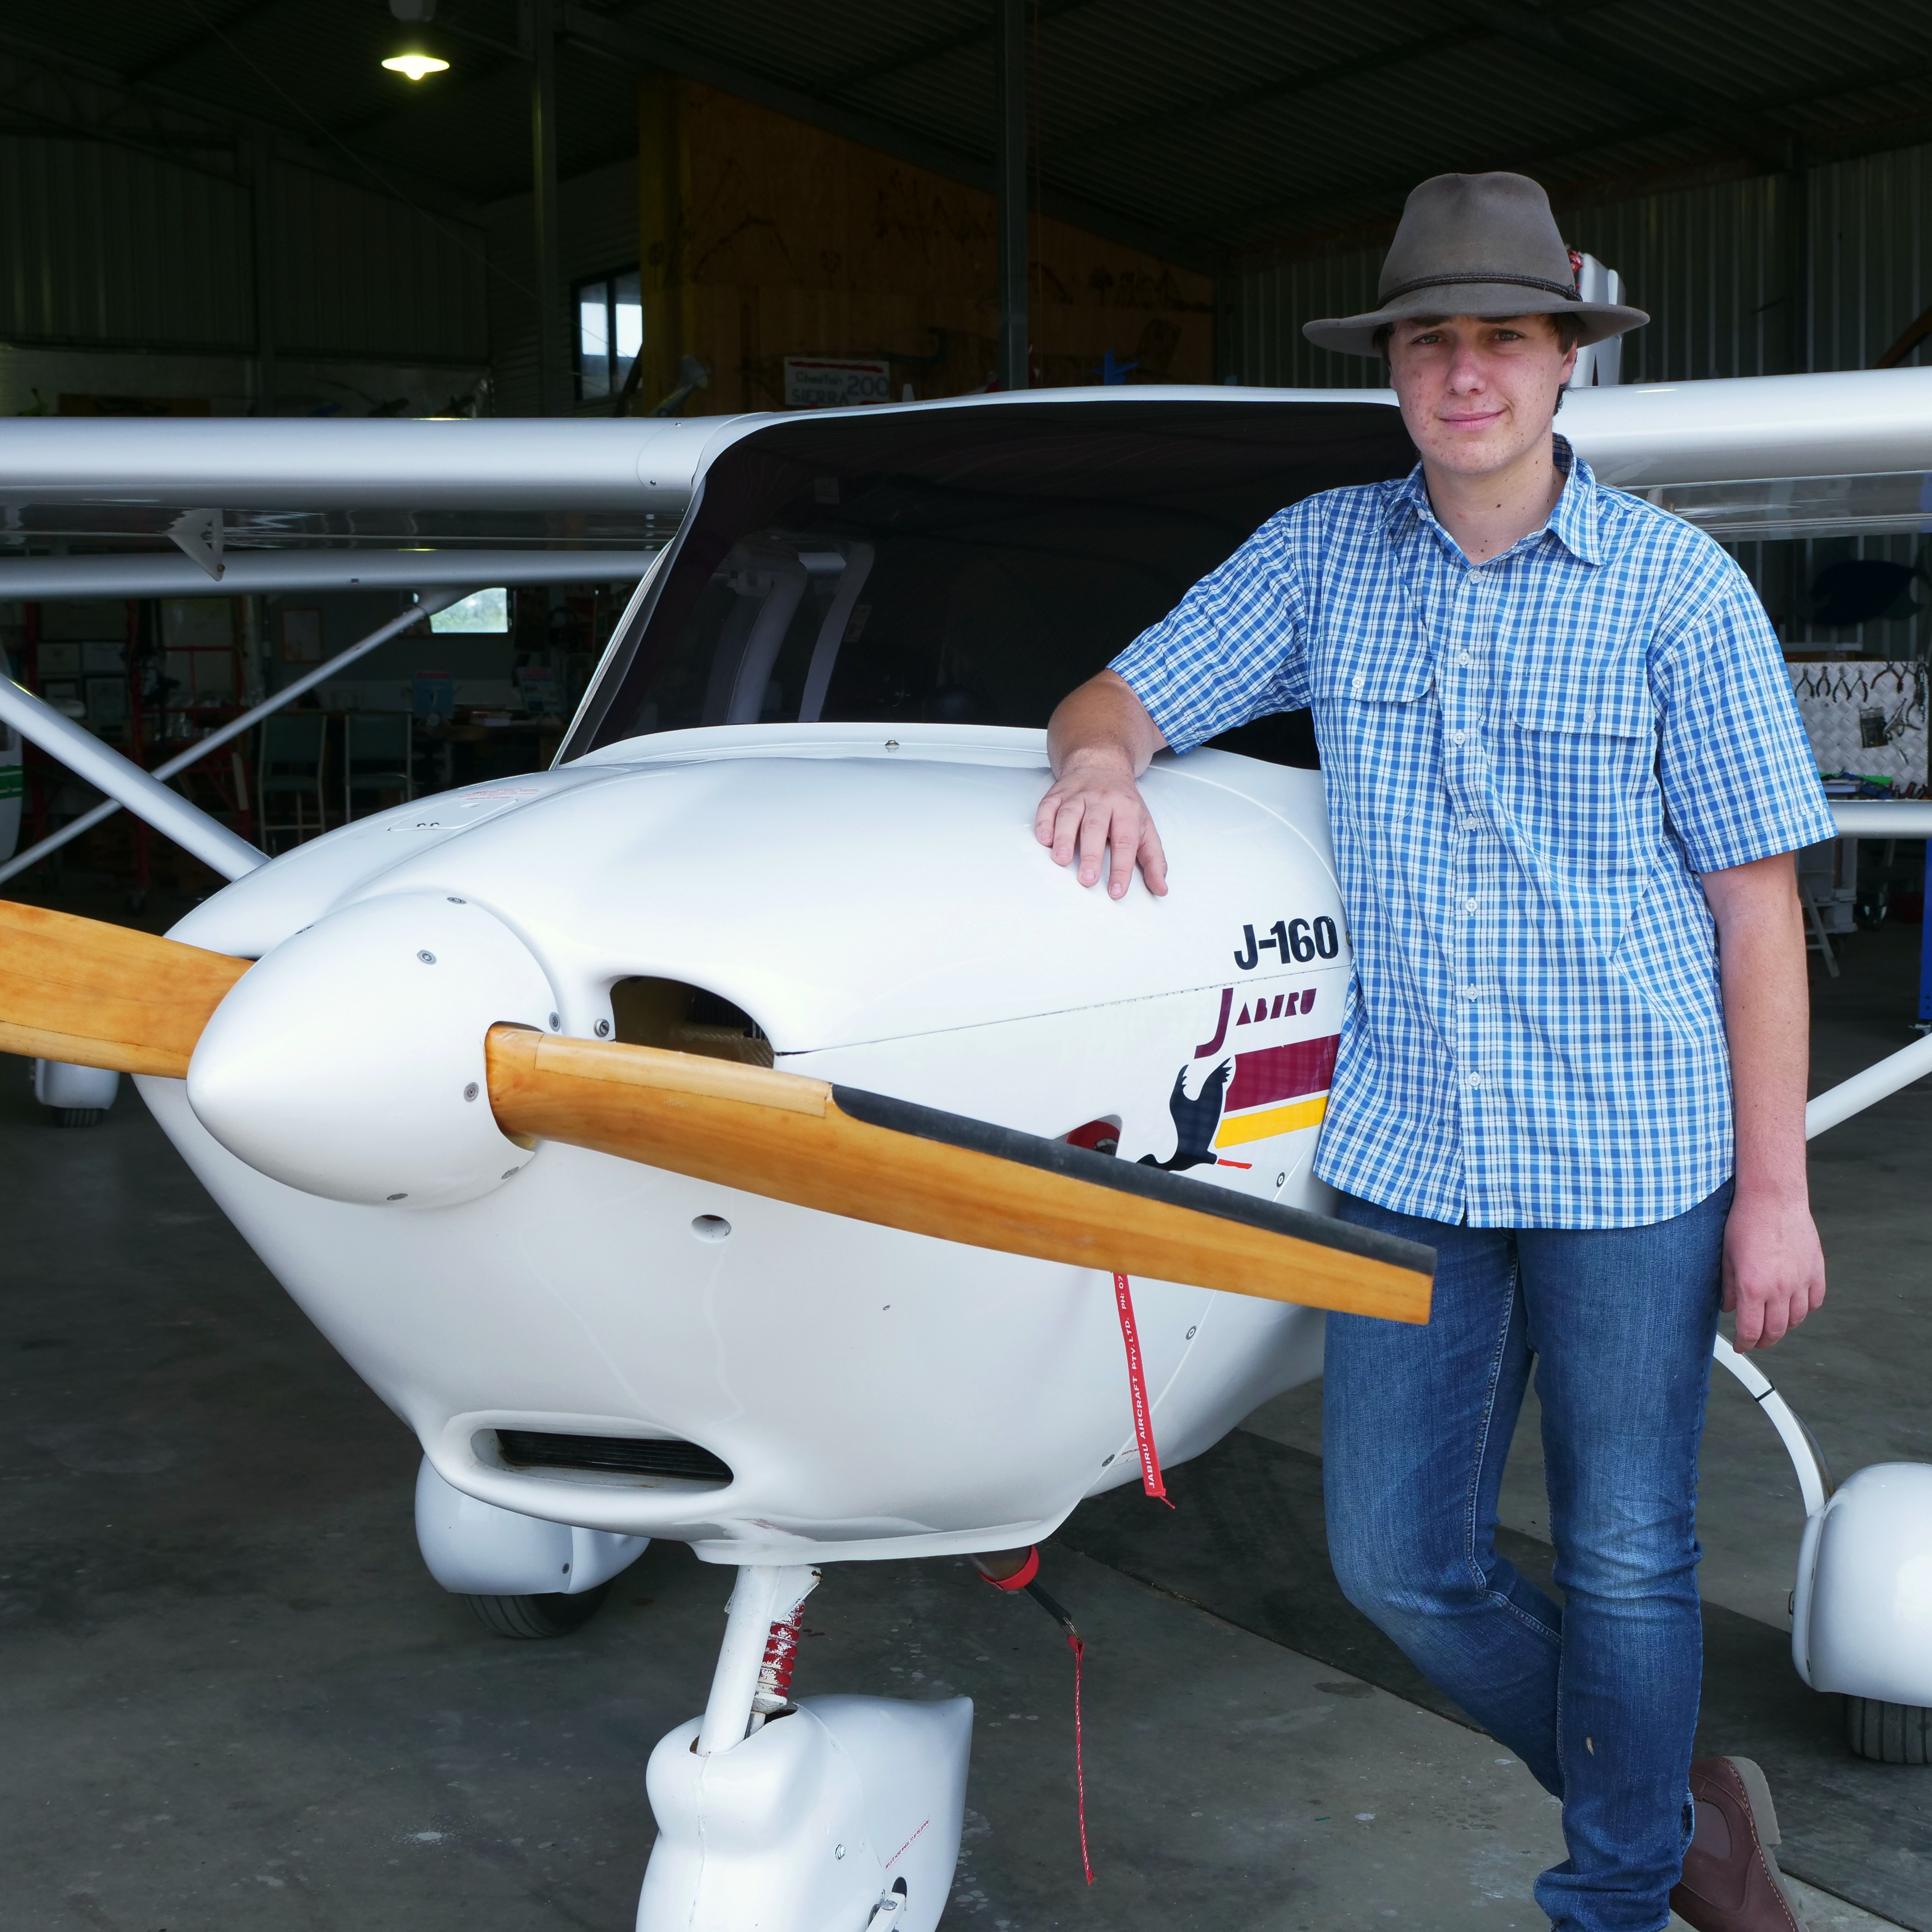
{"label": "dark corrugated metal roof of the hangar overhead", "polygon": [[[572,0],[558,60],[566,174],[630,153],[639,60],[804,97],[879,145],[985,166],[989,0]],[[624,50],[593,46],[603,25]],[[39,43],[176,104],[272,120],[336,170],[396,170],[471,201],[529,180],[514,0],[446,4],[454,62],[377,66],[381,0],[62,0],[10,12]],[[1142,232],[1302,249],[1385,224],[1447,168],[1520,166],[1563,197],[1698,170],[1770,174],[1932,137],[1924,0],[1037,0],[1039,185]],[[371,180],[369,185],[375,185]]]}

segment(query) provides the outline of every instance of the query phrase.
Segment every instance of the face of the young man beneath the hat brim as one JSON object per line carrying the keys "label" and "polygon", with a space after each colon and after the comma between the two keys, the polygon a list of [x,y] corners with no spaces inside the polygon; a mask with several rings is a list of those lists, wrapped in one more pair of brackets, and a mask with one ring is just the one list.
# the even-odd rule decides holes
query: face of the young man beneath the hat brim
{"label": "face of the young man beneath the hat brim", "polygon": [[1389,336],[1408,435],[1426,462],[1455,475],[1492,475],[1548,446],[1575,367],[1549,315],[1451,315],[1397,323]]}

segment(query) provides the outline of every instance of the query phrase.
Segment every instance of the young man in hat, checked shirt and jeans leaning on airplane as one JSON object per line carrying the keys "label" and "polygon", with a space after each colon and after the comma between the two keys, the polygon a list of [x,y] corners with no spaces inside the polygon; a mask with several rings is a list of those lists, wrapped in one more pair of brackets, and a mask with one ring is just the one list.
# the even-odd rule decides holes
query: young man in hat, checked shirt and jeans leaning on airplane
{"label": "young man in hat, checked shirt and jeans leaning on airplane", "polygon": [[[1791,852],[1835,829],[1743,572],[1553,435],[1644,321],[1534,182],[1424,182],[1379,307],[1306,325],[1387,355],[1418,469],[1283,510],[1066,697],[1037,831],[1161,895],[1148,759],[1314,707],[1356,968],[1316,1171],[1437,1252],[1428,1327],[1329,1316],[1335,1571],[1563,1799],[1555,1926],[1795,1932],[1756,1766],[1690,1764],[1692,1501],[1719,1304],[1756,1349],[1824,1298]],[[1532,1364],[1561,1609],[1493,1540]]]}

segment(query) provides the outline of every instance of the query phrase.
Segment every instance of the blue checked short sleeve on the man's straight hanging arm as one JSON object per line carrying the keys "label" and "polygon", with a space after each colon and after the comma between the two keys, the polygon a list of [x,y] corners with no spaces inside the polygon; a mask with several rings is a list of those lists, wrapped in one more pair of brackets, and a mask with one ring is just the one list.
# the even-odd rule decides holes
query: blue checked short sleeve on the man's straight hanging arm
{"label": "blue checked short sleeve on the man's straight hanging arm", "polygon": [[1837,837],[1764,607],[1729,556],[1712,568],[1716,593],[1663,628],[1652,670],[1658,779],[1692,871]]}

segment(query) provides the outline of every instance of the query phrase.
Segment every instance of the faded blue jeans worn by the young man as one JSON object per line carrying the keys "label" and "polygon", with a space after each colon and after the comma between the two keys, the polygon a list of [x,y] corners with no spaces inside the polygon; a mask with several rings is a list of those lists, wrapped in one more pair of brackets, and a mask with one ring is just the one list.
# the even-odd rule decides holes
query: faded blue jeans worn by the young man
{"label": "faded blue jeans worn by the young man", "polygon": [[[1478,1229],[1343,1196],[1437,1254],[1428,1327],[1329,1316],[1321,1451],[1349,1602],[1563,1801],[1561,1932],[1660,1932],[1704,1667],[1696,1451],[1731,1184],[1673,1221]],[[1495,1553],[1530,1364],[1559,1609]]]}

